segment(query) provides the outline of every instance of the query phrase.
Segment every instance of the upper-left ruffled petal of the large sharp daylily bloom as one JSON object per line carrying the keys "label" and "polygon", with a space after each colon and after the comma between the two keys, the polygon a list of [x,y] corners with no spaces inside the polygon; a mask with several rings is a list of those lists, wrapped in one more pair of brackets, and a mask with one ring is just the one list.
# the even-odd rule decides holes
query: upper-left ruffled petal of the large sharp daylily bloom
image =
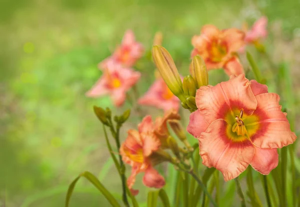
{"label": "upper-left ruffled petal of the large sharp daylily bloom", "polygon": [[215,86],[201,86],[196,92],[196,104],[210,124],[215,119],[224,118],[229,110],[235,108],[243,108],[245,114],[251,114],[256,108],[256,99],[248,79],[240,74]]}

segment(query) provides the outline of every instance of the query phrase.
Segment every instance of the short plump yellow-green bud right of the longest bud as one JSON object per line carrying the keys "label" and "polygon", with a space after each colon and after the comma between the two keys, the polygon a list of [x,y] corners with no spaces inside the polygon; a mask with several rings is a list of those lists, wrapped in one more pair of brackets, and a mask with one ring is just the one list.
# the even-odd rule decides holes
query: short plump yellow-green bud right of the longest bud
{"label": "short plump yellow-green bud right of the longest bud", "polygon": [[192,58],[189,71],[196,82],[197,88],[208,84],[207,68],[204,60],[199,55],[195,55]]}

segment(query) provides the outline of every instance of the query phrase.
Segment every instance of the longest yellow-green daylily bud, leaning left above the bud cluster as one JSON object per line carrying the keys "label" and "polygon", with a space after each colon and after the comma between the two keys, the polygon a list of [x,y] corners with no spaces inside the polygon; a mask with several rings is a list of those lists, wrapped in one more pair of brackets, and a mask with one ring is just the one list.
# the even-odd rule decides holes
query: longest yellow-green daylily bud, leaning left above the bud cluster
{"label": "longest yellow-green daylily bud, leaning left above the bud cluster", "polygon": [[180,100],[184,100],[181,78],[171,55],[164,47],[154,45],[152,47],[152,57],[168,88]]}

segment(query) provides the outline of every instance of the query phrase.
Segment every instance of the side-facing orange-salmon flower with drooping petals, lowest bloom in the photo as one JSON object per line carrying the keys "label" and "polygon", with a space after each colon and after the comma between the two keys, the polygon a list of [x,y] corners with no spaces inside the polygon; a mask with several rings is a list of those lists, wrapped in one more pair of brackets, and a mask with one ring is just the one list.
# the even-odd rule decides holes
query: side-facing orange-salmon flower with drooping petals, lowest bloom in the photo
{"label": "side-facing orange-salmon flower with drooping petals, lowest bloom in the photo", "polygon": [[153,133],[153,129],[151,116],[145,116],[138,125],[138,131],[128,130],[128,136],[120,147],[123,161],[132,167],[127,184],[133,194],[138,193],[132,186],[139,172],[144,172],[143,183],[148,187],[161,188],[165,184],[164,178],[153,168],[151,159],[151,155],[160,147],[159,138]]}

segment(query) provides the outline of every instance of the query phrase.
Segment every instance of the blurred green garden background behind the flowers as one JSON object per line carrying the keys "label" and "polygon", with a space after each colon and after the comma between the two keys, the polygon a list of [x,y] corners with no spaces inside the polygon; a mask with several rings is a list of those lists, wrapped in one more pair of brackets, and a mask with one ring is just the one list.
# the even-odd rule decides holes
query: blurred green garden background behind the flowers
{"label": "blurred green garden background behind the flowers", "polygon": [[[134,31],[146,49],[145,57],[135,67],[143,72],[138,83],[142,94],[154,80],[154,65],[146,56],[156,31],[163,33],[163,46],[185,75],[192,49],[190,39],[203,24],[240,28],[244,21],[251,24],[261,15],[269,19],[269,37],[265,42],[271,58],[289,62],[293,87],[298,88],[299,1],[2,0],[2,203],[5,197],[9,207],[63,206],[68,184],[84,170],[97,175],[120,196],[119,177],[107,158],[101,124],[92,111],[94,104],[110,106],[110,99],[87,98],[84,93],[101,75],[97,63],[110,55],[127,28]],[[267,67],[258,54],[254,56]],[[267,69],[263,75],[266,79],[272,76]],[[253,77],[251,72],[248,77]],[[211,84],[225,79],[221,70],[210,72]],[[276,82],[269,82],[271,91],[275,86]],[[299,93],[295,90],[296,100]],[[125,104],[112,110],[120,113],[128,107]],[[153,111],[154,115],[162,114],[160,110]],[[126,129],[136,127],[137,121],[133,113],[123,128],[122,139]],[[141,188],[137,196],[141,202],[145,201],[146,190]],[[75,188],[71,206],[109,205],[91,184],[82,180]]]}

